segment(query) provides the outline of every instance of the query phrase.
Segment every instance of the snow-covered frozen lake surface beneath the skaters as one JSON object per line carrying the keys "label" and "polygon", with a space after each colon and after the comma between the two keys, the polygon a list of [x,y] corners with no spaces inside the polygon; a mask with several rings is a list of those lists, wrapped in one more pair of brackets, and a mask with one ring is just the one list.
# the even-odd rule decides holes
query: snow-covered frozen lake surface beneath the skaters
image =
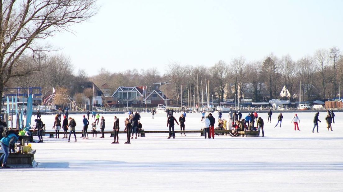
{"label": "snow-covered frozen lake surface beneath the skaters", "polygon": [[[82,139],[78,134],[78,141],[72,136],[70,143],[47,135],[44,143],[32,143],[36,168],[0,169],[1,191],[19,184],[26,191],[341,191],[343,113],[335,112],[333,131],[328,131],[326,112],[320,112],[320,133],[312,133],[315,112],[297,113],[301,131],[291,124],[294,113],[286,112],[282,127],[274,128],[278,114],[267,123],[267,113],[259,113],[265,122],[264,138],[204,139],[197,133],[167,139],[168,134],[146,134],[124,144],[126,135],[119,134],[120,144],[111,144],[109,134],[104,139],[91,134]],[[104,114],[105,131],[112,130],[115,115],[124,130],[127,114]],[[82,115],[69,116],[81,131]],[[168,129],[166,114],[156,114],[155,119],[150,113],[141,116],[145,130]],[[174,116],[178,119],[180,113]],[[43,115],[42,120],[52,131],[54,115]],[[200,120],[200,113],[187,113],[186,130],[199,130]]]}

